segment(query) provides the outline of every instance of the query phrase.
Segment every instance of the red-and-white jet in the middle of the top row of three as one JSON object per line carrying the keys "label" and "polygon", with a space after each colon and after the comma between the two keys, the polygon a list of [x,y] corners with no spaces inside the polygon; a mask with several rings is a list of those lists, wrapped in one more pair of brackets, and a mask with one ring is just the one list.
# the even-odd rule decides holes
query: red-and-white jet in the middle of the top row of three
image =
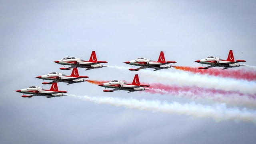
{"label": "red-and-white jet in the middle of the top row of three", "polygon": [[150,60],[148,58],[143,58],[143,57],[139,57],[136,60],[130,60],[127,62],[124,62],[126,64],[130,64],[130,65],[134,65],[134,66],[140,66],[139,68],[130,68],[129,70],[134,70],[134,71],[138,71],[144,68],[154,68],[156,70],[162,70],[162,69],[167,69],[167,68],[171,68],[172,66],[170,66],[170,63],[176,63],[175,61],[165,61],[164,58],[164,52],[160,52],[158,61],[154,61],[154,60]]}

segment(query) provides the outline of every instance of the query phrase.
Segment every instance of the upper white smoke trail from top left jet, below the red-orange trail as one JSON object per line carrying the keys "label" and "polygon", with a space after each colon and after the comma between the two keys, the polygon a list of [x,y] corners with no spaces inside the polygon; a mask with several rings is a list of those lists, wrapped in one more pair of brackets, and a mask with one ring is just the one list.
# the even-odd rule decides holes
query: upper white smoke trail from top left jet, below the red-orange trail
{"label": "upper white smoke trail from top left jet, below the red-orange trail", "polygon": [[[110,66],[122,71],[129,71],[129,67]],[[138,73],[144,77],[155,79],[158,82],[168,81],[172,84],[199,86],[204,88],[215,88],[218,90],[238,91],[241,93],[256,94],[256,82],[246,80],[234,80],[230,78],[220,78],[200,74],[190,74],[188,72],[168,72],[140,70]]]}

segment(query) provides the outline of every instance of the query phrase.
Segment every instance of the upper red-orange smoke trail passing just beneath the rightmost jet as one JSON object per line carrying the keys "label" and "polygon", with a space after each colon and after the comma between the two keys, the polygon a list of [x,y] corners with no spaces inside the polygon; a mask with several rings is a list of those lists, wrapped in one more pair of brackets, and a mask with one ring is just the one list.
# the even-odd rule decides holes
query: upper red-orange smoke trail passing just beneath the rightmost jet
{"label": "upper red-orange smoke trail passing just beneath the rightmost jet", "polygon": [[209,68],[207,70],[200,70],[197,67],[190,67],[190,66],[173,66],[177,70],[183,70],[186,72],[192,72],[194,74],[208,74],[210,76],[220,76],[223,78],[233,78],[236,80],[248,80],[253,81],[256,80],[256,71],[255,70],[246,70],[245,68],[242,69],[227,69],[222,70],[218,68]]}

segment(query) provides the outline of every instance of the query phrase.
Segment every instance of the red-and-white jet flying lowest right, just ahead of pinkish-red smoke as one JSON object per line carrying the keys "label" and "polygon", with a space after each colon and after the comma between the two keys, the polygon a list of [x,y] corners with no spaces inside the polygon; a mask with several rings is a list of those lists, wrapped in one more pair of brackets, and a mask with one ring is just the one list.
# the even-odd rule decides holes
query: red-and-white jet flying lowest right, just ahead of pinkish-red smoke
{"label": "red-and-white jet flying lowest right, just ahead of pinkish-red smoke", "polygon": [[103,90],[103,92],[114,92],[116,90],[127,90],[129,92],[136,92],[146,90],[143,87],[149,87],[150,85],[140,84],[138,74],[135,74],[133,82],[128,84],[126,82],[122,82],[120,80],[111,80],[110,82],[104,84],[98,84],[98,86],[102,86],[105,88],[114,88],[112,90]]}

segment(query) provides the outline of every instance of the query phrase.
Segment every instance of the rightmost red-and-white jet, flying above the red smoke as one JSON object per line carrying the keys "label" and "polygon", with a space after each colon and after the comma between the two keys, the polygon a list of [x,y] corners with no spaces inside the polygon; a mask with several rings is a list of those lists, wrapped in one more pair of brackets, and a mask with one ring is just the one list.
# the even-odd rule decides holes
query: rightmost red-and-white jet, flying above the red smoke
{"label": "rightmost red-and-white jet, flying above the red smoke", "polygon": [[239,66],[244,66],[241,64],[237,64],[238,62],[246,62],[246,60],[236,60],[233,56],[233,51],[230,50],[228,54],[227,60],[223,60],[221,58],[217,58],[215,56],[208,56],[207,58],[201,59],[201,60],[195,60],[194,62],[198,62],[200,64],[210,64],[210,66],[207,67],[199,67],[199,69],[208,69],[212,67],[223,67],[222,70],[225,70],[227,68],[234,68]]}

